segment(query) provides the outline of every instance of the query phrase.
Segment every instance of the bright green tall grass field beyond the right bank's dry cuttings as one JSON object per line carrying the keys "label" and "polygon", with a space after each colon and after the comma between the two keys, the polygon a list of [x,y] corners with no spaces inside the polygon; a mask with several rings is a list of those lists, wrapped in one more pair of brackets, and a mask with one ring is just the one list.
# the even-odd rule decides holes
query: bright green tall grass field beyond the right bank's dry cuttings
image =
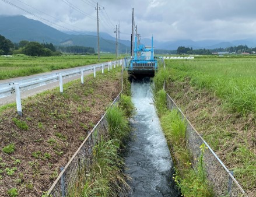
{"label": "bright green tall grass field beyond the right bank's dry cuttings", "polygon": [[256,113],[255,61],[256,57],[201,57],[169,60],[166,66],[171,80],[186,76],[192,86],[215,93],[230,110],[248,114]]}

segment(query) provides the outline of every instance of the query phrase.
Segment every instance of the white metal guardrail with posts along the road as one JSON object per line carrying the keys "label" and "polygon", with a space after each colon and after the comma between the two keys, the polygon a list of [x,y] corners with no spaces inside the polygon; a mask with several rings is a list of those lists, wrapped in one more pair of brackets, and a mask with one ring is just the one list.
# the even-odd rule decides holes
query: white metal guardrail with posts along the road
{"label": "white metal guardrail with posts along the road", "polygon": [[79,69],[78,68],[70,69],[69,71],[51,73],[48,75],[40,75],[40,76],[23,79],[23,80],[14,80],[8,83],[0,83],[0,99],[11,96],[12,94],[16,94],[17,113],[21,116],[22,105],[21,105],[20,92],[59,81],[59,91],[63,93],[62,79],[70,78],[75,75],[81,75],[81,83],[83,84],[83,72],[93,71],[93,76],[94,78],[96,78],[96,69],[101,68],[101,72],[104,73],[104,68],[106,66],[108,68],[108,71],[110,71],[113,65],[114,65],[114,68],[115,66],[122,65],[122,61],[123,59],[120,59],[118,61],[111,61],[111,62],[104,62],[96,65],[82,66]]}

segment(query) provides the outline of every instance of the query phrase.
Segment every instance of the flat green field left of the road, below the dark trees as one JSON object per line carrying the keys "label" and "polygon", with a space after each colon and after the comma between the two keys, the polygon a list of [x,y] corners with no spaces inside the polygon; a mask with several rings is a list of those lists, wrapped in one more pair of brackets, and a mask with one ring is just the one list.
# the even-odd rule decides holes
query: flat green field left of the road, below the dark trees
{"label": "flat green field left of the road, below the dark trees", "polygon": [[[101,54],[100,56],[100,62],[107,62],[113,59],[115,59],[115,54]],[[97,55],[62,55],[60,57],[0,56],[0,80],[96,63],[98,63]]]}

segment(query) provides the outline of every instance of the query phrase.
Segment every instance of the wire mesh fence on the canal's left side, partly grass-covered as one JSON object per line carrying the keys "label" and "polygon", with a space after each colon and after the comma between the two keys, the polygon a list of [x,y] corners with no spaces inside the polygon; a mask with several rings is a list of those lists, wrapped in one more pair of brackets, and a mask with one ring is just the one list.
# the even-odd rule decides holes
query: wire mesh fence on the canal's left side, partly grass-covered
{"label": "wire mesh fence on the canal's left side, partly grass-covered", "polygon": [[[120,96],[121,93],[118,94],[112,105],[120,100]],[[84,178],[90,171],[93,162],[93,147],[97,145],[102,136],[104,138],[107,135],[108,124],[105,113],[96,126],[94,126],[93,130],[87,135],[76,153],[73,154],[68,164],[62,169],[46,196],[69,196],[69,192],[72,191],[72,188],[75,187],[76,183],[79,181],[79,177],[81,177],[80,174],[83,173]]]}

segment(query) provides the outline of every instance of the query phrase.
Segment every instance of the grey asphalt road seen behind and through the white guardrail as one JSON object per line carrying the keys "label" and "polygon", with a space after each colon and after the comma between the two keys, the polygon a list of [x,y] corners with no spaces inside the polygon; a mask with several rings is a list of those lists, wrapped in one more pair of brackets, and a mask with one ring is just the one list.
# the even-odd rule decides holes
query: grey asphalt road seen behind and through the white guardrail
{"label": "grey asphalt road seen behind and through the white guardrail", "polygon": [[[90,67],[92,65],[87,65],[87,66]],[[81,67],[85,67],[85,66],[81,66]],[[29,78],[33,78],[33,77],[41,76],[41,75],[47,75],[47,74],[52,74],[52,73],[57,73],[57,72],[79,69],[79,68],[80,67],[71,68],[71,69],[61,69],[61,70],[55,70],[55,71],[52,71],[52,72],[40,73],[40,74],[36,74],[36,75],[30,75],[30,76],[23,76],[23,77],[19,77],[19,78],[0,80],[0,84],[1,83],[6,83],[6,82],[13,82],[13,81],[16,81],[16,80],[29,79]],[[101,68],[96,69],[96,71],[99,71],[99,70],[101,70]],[[86,76],[86,75],[89,75],[90,73],[93,73],[93,71],[85,71],[85,72],[83,72],[83,75]],[[70,82],[70,81],[75,80],[75,79],[80,79],[80,75],[76,75],[76,76],[72,76],[71,78],[63,79],[63,83],[67,83],[67,82]],[[59,81],[49,83],[49,84],[44,85],[44,86],[36,87],[34,89],[26,90],[24,92],[20,92],[20,94],[21,94],[22,99],[25,99],[25,98],[27,98],[29,96],[33,96],[37,93],[44,92],[45,90],[54,89],[55,87],[58,87],[58,86],[59,86]],[[9,104],[9,103],[14,103],[14,102],[16,102],[16,97],[15,97],[15,94],[12,94],[12,96],[8,96],[8,97],[4,97],[4,98],[0,99],[0,106],[5,105],[5,104]]]}

